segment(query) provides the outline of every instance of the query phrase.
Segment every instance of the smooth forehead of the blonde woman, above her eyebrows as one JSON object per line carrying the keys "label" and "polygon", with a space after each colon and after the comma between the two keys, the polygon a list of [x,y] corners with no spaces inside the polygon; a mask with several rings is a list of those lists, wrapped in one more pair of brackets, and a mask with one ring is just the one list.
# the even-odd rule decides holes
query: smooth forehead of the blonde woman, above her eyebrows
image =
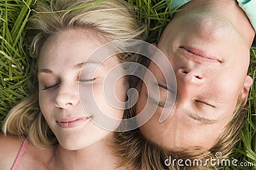
{"label": "smooth forehead of the blonde woman, above her eyebrows", "polygon": [[47,38],[39,53],[38,67],[84,62],[104,41],[86,30],[68,30]]}

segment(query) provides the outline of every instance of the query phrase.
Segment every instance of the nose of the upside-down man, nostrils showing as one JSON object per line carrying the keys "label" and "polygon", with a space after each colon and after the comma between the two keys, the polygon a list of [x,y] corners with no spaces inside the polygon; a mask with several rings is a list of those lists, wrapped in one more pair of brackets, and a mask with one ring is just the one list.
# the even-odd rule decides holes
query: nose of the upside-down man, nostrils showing
{"label": "nose of the upside-down man, nostrils showing", "polygon": [[193,69],[179,68],[177,70],[177,81],[184,85],[201,86],[204,83],[205,77],[200,71]]}

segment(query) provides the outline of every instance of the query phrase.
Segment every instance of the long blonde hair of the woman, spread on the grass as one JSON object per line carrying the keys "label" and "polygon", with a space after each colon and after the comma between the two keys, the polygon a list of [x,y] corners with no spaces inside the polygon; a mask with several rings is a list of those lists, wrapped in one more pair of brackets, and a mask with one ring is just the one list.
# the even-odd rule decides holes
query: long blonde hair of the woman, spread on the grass
{"label": "long blonde hair of the woman, spread on the grass", "polygon": [[[29,20],[29,52],[38,60],[44,42],[49,36],[68,29],[87,29],[97,32],[106,41],[144,39],[145,25],[139,24],[134,9],[125,1],[106,0],[49,0],[38,1],[36,13]],[[85,8],[77,8],[92,4]],[[76,10],[69,10],[76,8]],[[63,11],[61,11],[63,10]],[[61,12],[52,12],[61,11]],[[139,55],[118,55],[120,62],[140,60]],[[36,68],[37,69],[37,68]],[[36,71],[35,71],[36,72]],[[12,108],[4,120],[4,134],[29,137],[34,146],[45,148],[58,143],[47,125],[38,104],[37,77],[31,95]]]}

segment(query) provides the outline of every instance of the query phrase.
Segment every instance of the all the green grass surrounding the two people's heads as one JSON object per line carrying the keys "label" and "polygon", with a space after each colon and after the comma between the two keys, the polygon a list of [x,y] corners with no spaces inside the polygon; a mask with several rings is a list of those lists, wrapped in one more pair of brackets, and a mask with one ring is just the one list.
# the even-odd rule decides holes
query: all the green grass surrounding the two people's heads
{"label": "all the green grass surrounding the two people's heads", "polygon": [[[165,0],[127,0],[138,11],[140,22],[148,26],[150,43],[156,43],[164,27],[170,21],[170,11]],[[34,62],[24,46],[26,31],[35,0],[0,0],[0,124],[10,108],[28,96],[31,85],[29,78]],[[248,116],[241,141],[234,148],[233,158],[239,162],[253,162],[256,165],[256,50],[251,50],[249,73],[253,86],[248,97]],[[243,169],[223,167],[223,169]],[[252,169],[252,168],[244,168]]]}

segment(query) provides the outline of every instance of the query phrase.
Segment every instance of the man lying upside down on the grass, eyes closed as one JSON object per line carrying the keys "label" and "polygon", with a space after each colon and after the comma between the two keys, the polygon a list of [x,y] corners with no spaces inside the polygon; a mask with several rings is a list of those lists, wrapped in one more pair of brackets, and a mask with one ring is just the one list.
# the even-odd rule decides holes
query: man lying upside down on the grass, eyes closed
{"label": "man lying upside down on the grass, eyes closed", "polygon": [[[163,68],[151,62],[148,70],[158,87],[142,84],[140,89],[139,84],[135,110],[138,115],[154,104],[157,110],[140,131],[116,134],[116,154],[122,158],[121,164],[138,169],[180,169],[180,164],[187,169],[208,169],[216,166],[209,162],[216,159],[216,153],[224,158],[232,151],[243,126],[244,104],[252,85],[247,71],[256,12],[244,13],[235,0],[174,0],[172,4],[172,10],[183,4],[186,10],[175,13],[157,47],[172,64],[176,101],[173,108],[169,106],[173,89],[168,87],[172,85],[164,78]],[[255,9],[255,1],[246,5]],[[153,59],[157,57],[154,53]],[[159,121],[168,109],[168,117]],[[170,157],[183,162],[170,162]],[[196,159],[202,164],[184,165],[185,160]]]}

